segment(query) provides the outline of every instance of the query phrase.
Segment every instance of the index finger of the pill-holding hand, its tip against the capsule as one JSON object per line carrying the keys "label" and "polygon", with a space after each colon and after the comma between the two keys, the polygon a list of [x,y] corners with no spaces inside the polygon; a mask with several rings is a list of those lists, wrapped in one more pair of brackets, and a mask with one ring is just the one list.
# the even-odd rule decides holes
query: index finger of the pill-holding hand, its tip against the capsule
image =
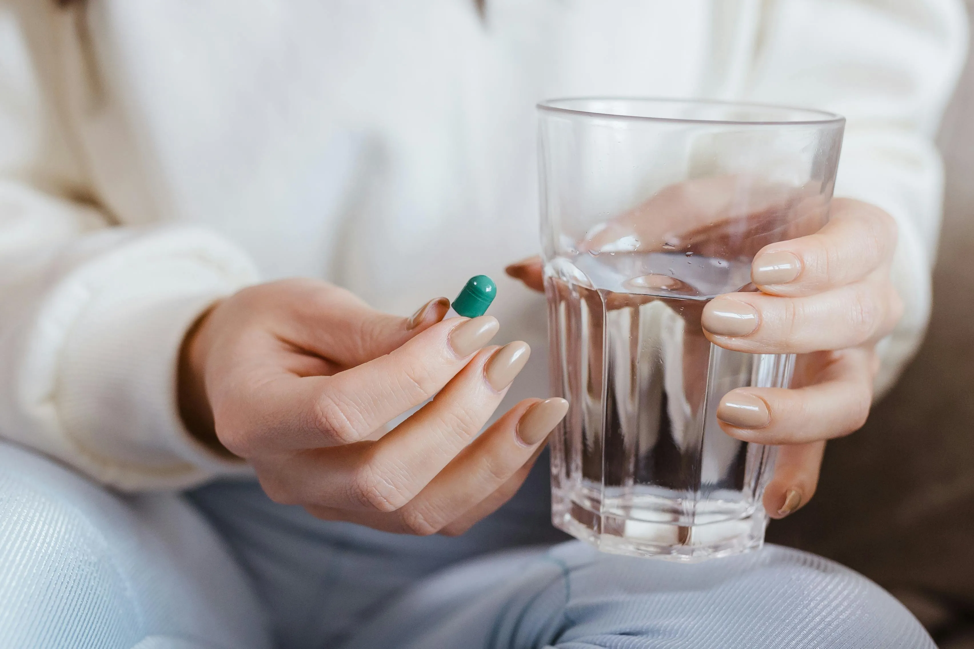
{"label": "index finger of the pill-holding hand, its tip against the capsule", "polygon": [[352,444],[438,392],[499,329],[491,316],[450,318],[331,377],[299,379],[280,368],[244,368],[226,389],[245,399],[211,399],[223,405],[217,433],[242,457]]}

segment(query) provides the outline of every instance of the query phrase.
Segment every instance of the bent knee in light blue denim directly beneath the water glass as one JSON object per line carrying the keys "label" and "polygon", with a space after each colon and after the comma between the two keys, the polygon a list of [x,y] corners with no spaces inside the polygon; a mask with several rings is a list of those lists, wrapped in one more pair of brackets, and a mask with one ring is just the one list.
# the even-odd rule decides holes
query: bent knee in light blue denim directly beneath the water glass
{"label": "bent knee in light blue denim directly beneath the water glass", "polygon": [[[770,546],[678,564],[554,549],[511,646],[933,649],[892,595],[843,566]],[[516,637],[515,637],[516,636]]]}

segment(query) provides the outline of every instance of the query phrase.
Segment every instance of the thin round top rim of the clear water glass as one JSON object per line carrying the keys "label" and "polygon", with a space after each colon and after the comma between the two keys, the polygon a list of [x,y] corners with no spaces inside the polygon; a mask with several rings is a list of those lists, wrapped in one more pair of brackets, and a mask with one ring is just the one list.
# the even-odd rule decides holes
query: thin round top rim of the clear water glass
{"label": "thin round top rim of the clear water glass", "polygon": [[[649,115],[618,115],[614,113],[599,113],[585,111],[578,108],[567,108],[557,104],[567,104],[569,102],[581,101],[628,101],[644,104],[668,104],[687,106],[728,106],[735,108],[760,108],[771,111],[793,111],[804,113],[808,116],[817,115],[817,119],[809,118],[803,120],[702,120],[694,118],[678,117],[653,117]],[[578,96],[578,97],[557,97],[545,99],[538,102],[536,108],[539,112],[560,113],[564,115],[574,115],[585,118],[598,118],[602,120],[621,120],[626,122],[667,122],[677,124],[715,124],[715,125],[734,125],[734,126],[825,126],[830,124],[843,124],[845,118],[837,113],[819,110],[817,108],[799,108],[797,106],[785,106],[781,104],[766,104],[751,101],[724,101],[720,99],[683,99],[677,97],[638,97],[638,96]]]}

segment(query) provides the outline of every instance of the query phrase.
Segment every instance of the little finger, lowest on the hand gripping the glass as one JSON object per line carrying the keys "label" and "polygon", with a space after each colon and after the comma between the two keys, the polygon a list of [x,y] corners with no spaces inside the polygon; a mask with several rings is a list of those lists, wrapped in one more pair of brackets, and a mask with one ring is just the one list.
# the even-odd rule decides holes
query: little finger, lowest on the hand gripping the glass
{"label": "little finger, lowest on the hand gripping the glass", "polygon": [[765,510],[772,519],[783,519],[805,506],[818,486],[825,442],[781,447],[774,477],[765,489]]}

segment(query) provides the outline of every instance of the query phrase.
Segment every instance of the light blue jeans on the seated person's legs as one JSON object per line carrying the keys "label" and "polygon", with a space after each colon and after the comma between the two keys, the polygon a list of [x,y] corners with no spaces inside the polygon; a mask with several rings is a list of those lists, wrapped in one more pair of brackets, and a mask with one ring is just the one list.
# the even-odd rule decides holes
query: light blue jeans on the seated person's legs
{"label": "light blue jeans on the seated person's legs", "polygon": [[933,647],[892,596],[801,552],[681,565],[551,545],[546,488],[540,470],[468,534],[413,538],[253,483],[121,496],[0,444],[0,647]]}

